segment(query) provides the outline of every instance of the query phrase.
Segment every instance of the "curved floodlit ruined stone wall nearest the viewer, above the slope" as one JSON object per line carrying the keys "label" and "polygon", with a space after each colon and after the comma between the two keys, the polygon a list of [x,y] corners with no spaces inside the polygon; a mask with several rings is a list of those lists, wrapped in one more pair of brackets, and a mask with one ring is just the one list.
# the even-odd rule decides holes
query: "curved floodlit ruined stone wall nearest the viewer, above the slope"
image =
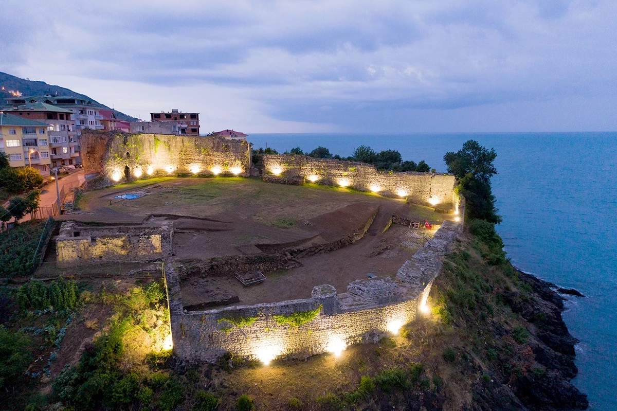
{"label": "curved floodlit ruined stone wall nearest the viewer, above the slope", "polygon": [[[217,310],[184,310],[180,281],[170,261],[165,265],[165,281],[174,351],[188,361],[213,361],[230,351],[267,362],[378,341],[415,320],[416,309],[426,302],[441,270],[441,259],[461,228],[460,224],[444,222],[434,238],[400,268],[395,280],[356,280],[343,294],[337,294],[330,285],[317,286],[307,299]],[[312,320],[299,326],[275,318],[317,309]],[[239,318],[244,318],[244,325],[237,325]]]}

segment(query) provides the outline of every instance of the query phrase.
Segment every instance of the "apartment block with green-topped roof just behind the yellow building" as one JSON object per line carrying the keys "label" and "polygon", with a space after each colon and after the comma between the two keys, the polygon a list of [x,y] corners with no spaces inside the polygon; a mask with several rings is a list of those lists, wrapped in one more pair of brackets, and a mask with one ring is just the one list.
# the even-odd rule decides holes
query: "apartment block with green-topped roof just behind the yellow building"
{"label": "apartment block with green-topped roof just behind the yellow building", "polygon": [[46,123],[49,136],[49,155],[52,167],[76,165],[80,157],[75,121],[71,120],[72,110],[52,106],[44,102],[33,102],[4,109],[9,114],[30,118]]}

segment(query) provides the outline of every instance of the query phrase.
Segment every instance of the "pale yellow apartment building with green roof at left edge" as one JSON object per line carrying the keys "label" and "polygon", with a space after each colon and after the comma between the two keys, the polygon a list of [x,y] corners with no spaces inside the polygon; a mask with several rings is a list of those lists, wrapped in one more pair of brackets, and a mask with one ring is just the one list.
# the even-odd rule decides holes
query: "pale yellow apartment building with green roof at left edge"
{"label": "pale yellow apartment building with green roof at left edge", "polygon": [[0,151],[9,156],[10,167],[30,165],[49,176],[48,124],[0,111]]}

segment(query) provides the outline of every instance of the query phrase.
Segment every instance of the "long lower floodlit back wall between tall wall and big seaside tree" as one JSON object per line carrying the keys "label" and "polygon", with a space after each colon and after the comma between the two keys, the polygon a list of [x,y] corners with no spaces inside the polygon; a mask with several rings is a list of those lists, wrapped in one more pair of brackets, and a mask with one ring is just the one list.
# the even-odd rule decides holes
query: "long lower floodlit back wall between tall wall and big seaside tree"
{"label": "long lower floodlit back wall between tall wall and big seaside tree", "polygon": [[[349,186],[383,196],[407,197],[416,204],[455,208],[455,177],[447,173],[379,172],[373,165],[307,156],[263,156],[264,172],[291,178],[302,176],[324,185]],[[264,178],[267,180],[267,178]],[[268,181],[268,180],[267,180]]]}

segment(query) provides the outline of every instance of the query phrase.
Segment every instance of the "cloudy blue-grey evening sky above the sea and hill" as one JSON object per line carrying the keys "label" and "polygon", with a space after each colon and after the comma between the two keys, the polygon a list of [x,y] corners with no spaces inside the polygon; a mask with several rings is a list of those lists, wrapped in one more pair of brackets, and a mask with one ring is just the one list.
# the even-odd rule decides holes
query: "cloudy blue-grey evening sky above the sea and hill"
{"label": "cloudy blue-grey evening sky above the sea and hill", "polygon": [[617,130],[615,0],[2,0],[0,71],[202,132]]}

